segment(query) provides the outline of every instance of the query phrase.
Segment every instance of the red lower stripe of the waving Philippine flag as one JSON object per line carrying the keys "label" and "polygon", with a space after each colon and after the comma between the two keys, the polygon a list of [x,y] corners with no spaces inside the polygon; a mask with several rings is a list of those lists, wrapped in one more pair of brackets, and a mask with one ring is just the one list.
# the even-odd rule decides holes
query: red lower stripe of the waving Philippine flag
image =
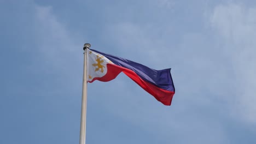
{"label": "red lower stripe of the waving Philippine flag", "polygon": [[107,82],[110,80],[115,79],[122,71],[124,74],[129,76],[133,81],[135,81],[139,86],[141,86],[145,91],[150,93],[155,97],[156,100],[160,101],[164,105],[171,105],[172,97],[174,95],[174,92],[167,91],[165,89],[161,89],[152,83],[149,83],[147,81],[144,81],[139,77],[134,71],[120,67],[119,65],[115,64],[107,64],[107,74],[102,77],[95,77],[91,81],[88,82],[94,82],[95,80]]}

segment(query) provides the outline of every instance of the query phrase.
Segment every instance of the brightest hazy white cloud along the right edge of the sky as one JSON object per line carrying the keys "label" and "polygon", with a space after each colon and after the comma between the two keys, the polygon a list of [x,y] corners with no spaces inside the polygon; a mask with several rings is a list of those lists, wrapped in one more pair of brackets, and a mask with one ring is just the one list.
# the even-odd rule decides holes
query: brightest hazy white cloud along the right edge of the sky
{"label": "brightest hazy white cloud along the right edge of the sky", "polygon": [[230,58],[235,87],[232,112],[248,122],[256,122],[256,8],[244,5],[218,5],[211,16],[212,27],[220,35],[226,56]]}

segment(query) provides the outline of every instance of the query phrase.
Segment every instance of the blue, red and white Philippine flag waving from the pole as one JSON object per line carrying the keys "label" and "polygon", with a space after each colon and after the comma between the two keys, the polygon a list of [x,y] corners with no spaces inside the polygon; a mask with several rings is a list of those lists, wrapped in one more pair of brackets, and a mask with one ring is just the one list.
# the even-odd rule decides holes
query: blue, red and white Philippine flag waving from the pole
{"label": "blue, red and white Philippine flag waving from the pole", "polygon": [[88,82],[91,83],[95,80],[107,82],[115,79],[118,74],[123,72],[162,104],[171,105],[175,88],[170,68],[154,70],[124,58],[92,49],[86,50]]}

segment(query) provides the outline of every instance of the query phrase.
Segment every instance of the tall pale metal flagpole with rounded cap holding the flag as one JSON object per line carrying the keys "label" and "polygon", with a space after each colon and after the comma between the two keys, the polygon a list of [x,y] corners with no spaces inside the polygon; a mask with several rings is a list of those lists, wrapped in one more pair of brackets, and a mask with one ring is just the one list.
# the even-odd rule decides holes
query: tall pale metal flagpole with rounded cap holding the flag
{"label": "tall pale metal flagpole with rounded cap holding the flag", "polygon": [[87,104],[87,49],[90,44],[84,44],[84,74],[83,74],[83,89],[82,89],[82,108],[81,108],[81,123],[80,123],[80,144],[85,144],[86,135],[86,104]]}

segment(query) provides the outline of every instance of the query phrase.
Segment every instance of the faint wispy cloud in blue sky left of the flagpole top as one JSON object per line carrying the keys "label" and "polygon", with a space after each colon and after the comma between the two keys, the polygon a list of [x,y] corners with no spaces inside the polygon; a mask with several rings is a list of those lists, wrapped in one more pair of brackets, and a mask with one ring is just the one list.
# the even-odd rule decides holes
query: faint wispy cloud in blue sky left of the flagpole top
{"label": "faint wispy cloud in blue sky left of the flagpole top", "polygon": [[[50,65],[58,67],[58,65],[63,65],[66,62],[77,61],[78,59],[74,56],[77,50],[83,54],[83,44],[78,45],[80,44],[78,43],[79,37],[74,37],[64,23],[56,18],[51,6],[35,5],[34,21],[38,50]],[[68,59],[69,56],[73,56],[73,58]]]}

